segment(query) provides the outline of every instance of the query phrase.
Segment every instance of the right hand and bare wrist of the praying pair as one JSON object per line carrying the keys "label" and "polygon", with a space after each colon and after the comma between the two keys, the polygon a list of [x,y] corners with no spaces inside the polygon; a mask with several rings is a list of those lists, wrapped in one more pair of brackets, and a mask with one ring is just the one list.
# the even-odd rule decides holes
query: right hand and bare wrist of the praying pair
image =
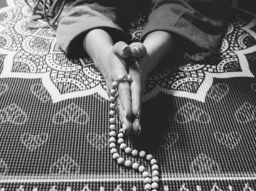
{"label": "right hand and bare wrist of the praying pair", "polygon": [[133,121],[133,132],[140,132],[141,103],[143,99],[147,76],[156,67],[158,62],[170,53],[173,48],[172,34],[164,31],[155,31],[147,35],[143,44],[130,44],[133,62],[129,64],[128,74],[132,76],[130,84],[132,92],[132,112],[136,116]]}

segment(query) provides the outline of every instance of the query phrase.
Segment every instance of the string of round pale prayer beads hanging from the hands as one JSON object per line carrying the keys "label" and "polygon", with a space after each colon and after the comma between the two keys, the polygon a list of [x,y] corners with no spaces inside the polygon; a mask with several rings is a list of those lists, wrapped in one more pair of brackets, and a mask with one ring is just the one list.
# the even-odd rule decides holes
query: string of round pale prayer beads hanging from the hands
{"label": "string of round pale prayer beads hanging from the hands", "polygon": [[159,172],[158,172],[158,165],[156,159],[153,158],[151,154],[146,154],[145,151],[140,151],[138,152],[137,150],[132,150],[132,148],[128,147],[124,143],[124,132],[123,128],[120,128],[119,133],[117,135],[117,143],[120,145],[120,149],[123,150],[126,154],[137,157],[139,156],[140,158],[144,158],[150,162],[151,165],[151,170],[152,170],[152,178],[150,177],[150,173],[146,171],[145,166],[140,165],[136,162],[132,163],[131,160],[124,160],[123,157],[120,157],[120,154],[117,152],[117,146],[116,146],[116,94],[117,94],[117,88],[120,82],[123,81],[132,81],[132,76],[130,75],[123,75],[119,76],[116,81],[112,82],[112,89],[110,91],[111,96],[110,96],[110,153],[112,154],[112,158],[117,161],[119,165],[126,166],[127,168],[132,168],[134,170],[138,170],[143,178],[144,178],[144,190],[152,190],[152,191],[157,191],[158,188],[158,182],[160,181]]}

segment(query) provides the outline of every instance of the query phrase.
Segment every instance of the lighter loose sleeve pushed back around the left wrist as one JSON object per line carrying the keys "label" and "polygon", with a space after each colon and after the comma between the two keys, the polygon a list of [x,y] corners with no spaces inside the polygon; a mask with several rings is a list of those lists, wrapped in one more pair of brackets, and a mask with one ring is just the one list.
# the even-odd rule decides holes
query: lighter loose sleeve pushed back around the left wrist
{"label": "lighter loose sleeve pushed back around the left wrist", "polygon": [[126,33],[118,25],[115,8],[83,2],[88,1],[78,0],[67,4],[59,19],[56,41],[67,55],[84,54],[83,37],[95,28],[105,29],[114,41],[127,39]]}

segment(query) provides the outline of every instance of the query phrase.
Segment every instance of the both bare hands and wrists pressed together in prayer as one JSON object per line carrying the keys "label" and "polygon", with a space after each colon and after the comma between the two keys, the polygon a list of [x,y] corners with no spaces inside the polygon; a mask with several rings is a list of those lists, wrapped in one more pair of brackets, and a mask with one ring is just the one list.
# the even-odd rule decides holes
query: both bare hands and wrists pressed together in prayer
{"label": "both bare hands and wrists pressed together in prayer", "polygon": [[143,43],[128,45],[123,41],[113,43],[109,33],[93,29],[83,40],[83,48],[92,58],[95,67],[103,75],[107,93],[112,82],[120,75],[131,75],[132,83],[121,82],[118,86],[118,116],[125,134],[140,132],[140,115],[147,76],[172,50],[173,36],[164,31],[147,35]]}

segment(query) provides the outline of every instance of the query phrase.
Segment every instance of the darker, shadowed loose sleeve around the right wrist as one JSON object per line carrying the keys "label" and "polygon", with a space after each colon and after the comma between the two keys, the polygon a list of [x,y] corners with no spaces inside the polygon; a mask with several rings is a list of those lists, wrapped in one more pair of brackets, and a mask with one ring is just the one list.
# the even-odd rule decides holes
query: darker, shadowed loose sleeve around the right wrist
{"label": "darker, shadowed loose sleeve around the right wrist", "polygon": [[175,36],[175,52],[187,61],[203,61],[219,45],[223,31],[222,0],[153,0],[141,41],[153,31]]}

